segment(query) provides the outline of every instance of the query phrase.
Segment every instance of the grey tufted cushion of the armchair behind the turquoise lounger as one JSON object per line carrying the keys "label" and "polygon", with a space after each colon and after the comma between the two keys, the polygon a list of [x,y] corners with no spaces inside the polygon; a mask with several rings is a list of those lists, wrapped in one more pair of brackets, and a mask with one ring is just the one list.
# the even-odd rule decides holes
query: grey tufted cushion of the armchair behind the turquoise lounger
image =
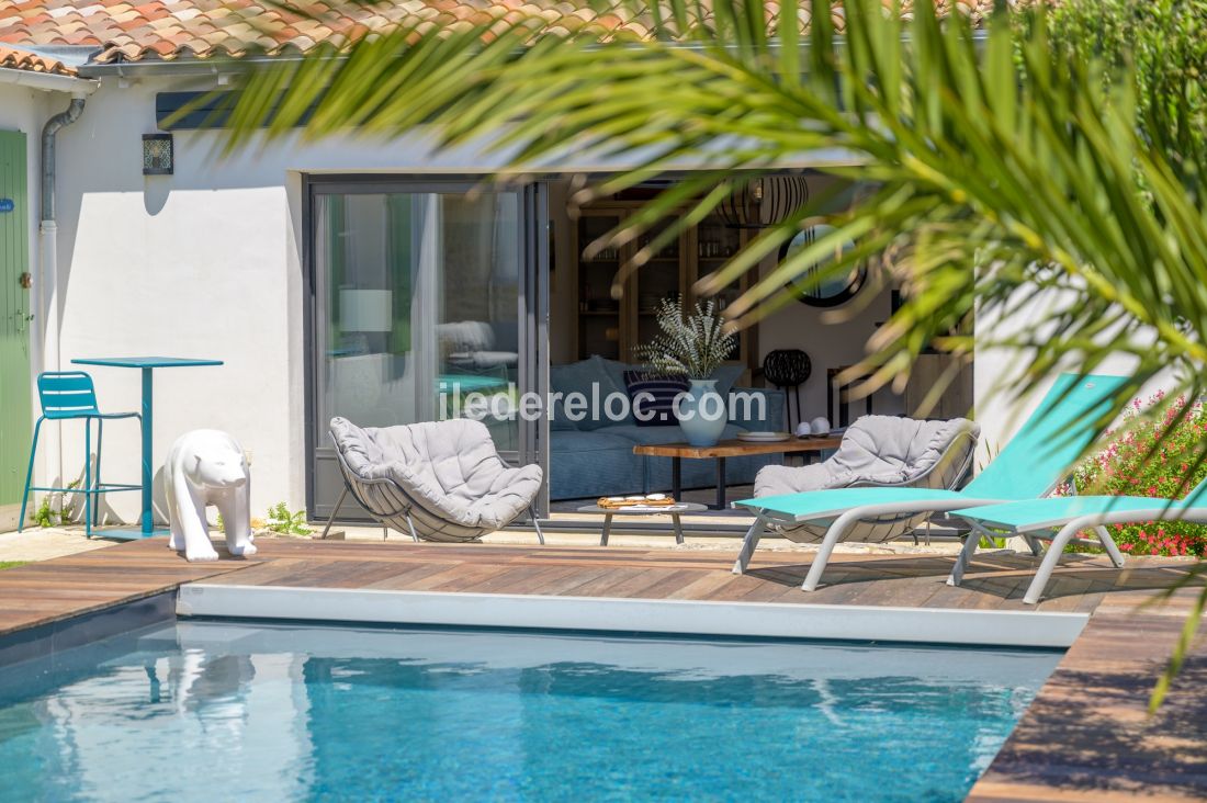
{"label": "grey tufted cushion of the armchair behind the turquoise lounger", "polygon": [[[776,496],[856,484],[912,485],[946,476],[940,462],[967,459],[980,426],[964,418],[922,421],[864,415],[842,436],[828,460],[799,467],[766,466],[754,478],[756,496]],[[957,446],[958,454],[949,454]],[[938,485],[937,485],[938,487]]]}

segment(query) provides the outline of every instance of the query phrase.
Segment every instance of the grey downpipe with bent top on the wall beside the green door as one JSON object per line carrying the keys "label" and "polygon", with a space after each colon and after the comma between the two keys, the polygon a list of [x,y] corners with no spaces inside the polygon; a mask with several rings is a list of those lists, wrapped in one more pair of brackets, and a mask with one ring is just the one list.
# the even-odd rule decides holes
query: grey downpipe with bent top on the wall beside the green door
{"label": "grey downpipe with bent top on the wall beside the green door", "polygon": [[[72,98],[71,104],[46,121],[42,127],[42,214],[39,226],[39,255],[41,270],[37,281],[37,310],[41,314],[41,354],[36,363],[40,371],[59,370],[59,261],[58,261],[58,225],[54,222],[54,136],[59,129],[80,120],[83,114],[83,98]],[[63,440],[58,421],[53,421],[46,432],[47,478],[58,484],[63,478]]]}

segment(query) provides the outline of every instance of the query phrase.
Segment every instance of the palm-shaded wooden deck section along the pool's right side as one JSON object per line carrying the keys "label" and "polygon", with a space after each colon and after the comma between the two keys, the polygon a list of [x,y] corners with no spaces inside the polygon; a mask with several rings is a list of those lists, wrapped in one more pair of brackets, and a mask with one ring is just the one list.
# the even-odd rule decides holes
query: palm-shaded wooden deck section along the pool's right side
{"label": "palm-shaded wooden deck section along the pool's right side", "polygon": [[1135,595],[1100,604],[968,799],[1207,799],[1207,639],[1147,710],[1201,590],[1138,610]]}

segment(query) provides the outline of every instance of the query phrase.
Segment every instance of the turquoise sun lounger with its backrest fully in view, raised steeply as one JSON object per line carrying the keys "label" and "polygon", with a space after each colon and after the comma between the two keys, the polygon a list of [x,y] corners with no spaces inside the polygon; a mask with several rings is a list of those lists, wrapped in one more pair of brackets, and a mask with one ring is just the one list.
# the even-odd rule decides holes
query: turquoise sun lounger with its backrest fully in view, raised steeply
{"label": "turquoise sun lounger with its backrest fully in view, raised steeply", "polygon": [[[1046,496],[1094,442],[1098,420],[1114,406],[1126,377],[1061,374],[1039,407],[993,461],[962,490],[941,488],[851,487],[734,502],[754,513],[734,563],[740,575],[770,528],[806,522],[828,524],[817,557],[801,586],[817,588],[835,545],[861,519],[906,513],[944,513],[980,505]],[[1038,553],[1037,553],[1038,554]]]}

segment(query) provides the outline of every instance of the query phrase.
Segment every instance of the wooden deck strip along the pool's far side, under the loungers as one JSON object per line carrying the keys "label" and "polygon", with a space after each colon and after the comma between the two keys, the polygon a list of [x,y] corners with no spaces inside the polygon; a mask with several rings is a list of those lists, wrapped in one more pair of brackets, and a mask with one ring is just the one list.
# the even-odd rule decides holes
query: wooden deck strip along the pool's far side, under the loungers
{"label": "wooden deck strip along the pool's far side, under the loungers", "polygon": [[[736,545],[735,545],[736,546]],[[260,555],[257,555],[258,558]],[[951,558],[836,555],[827,584],[800,590],[804,555],[758,553],[746,575],[718,551],[620,547],[514,547],[274,541],[258,565],[206,582],[239,586],[378,588],[482,594],[619,597],[812,605],[894,605],[1031,610],[1022,594],[1033,576],[1030,558],[978,559],[964,584],[946,584]],[[1090,612],[1104,595],[1167,588],[1186,564],[1145,561],[1118,571],[1103,558],[1073,557],[1050,587],[1042,611]]]}

